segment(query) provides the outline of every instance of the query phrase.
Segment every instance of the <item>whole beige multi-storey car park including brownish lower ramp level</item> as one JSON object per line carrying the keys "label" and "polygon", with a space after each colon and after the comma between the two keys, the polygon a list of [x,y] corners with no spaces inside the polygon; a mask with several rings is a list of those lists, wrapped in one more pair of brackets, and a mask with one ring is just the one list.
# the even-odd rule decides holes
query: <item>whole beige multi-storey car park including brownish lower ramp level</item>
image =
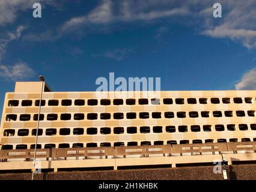
{"label": "whole beige multi-storey car park including brownish lower ramp level", "polygon": [[[0,169],[32,169],[41,82],[5,95]],[[159,98],[52,92],[44,84],[41,169],[256,160],[256,91],[161,91]],[[242,142],[242,143],[241,143]],[[247,155],[249,153],[249,155]],[[50,162],[50,163],[49,163]]]}

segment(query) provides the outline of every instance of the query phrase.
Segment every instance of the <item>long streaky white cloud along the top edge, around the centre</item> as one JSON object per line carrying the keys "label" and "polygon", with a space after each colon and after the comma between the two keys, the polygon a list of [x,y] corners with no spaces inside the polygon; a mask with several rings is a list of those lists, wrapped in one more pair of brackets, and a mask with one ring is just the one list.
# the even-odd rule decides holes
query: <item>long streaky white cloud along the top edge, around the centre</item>
{"label": "long streaky white cloud along the top edge, around the centre", "polygon": [[188,14],[186,7],[166,8],[162,10],[137,10],[137,2],[122,1],[114,4],[111,0],[103,0],[94,10],[85,16],[73,17],[61,26],[61,31],[75,30],[87,24],[108,24],[112,22],[130,22],[136,20],[153,20]]}

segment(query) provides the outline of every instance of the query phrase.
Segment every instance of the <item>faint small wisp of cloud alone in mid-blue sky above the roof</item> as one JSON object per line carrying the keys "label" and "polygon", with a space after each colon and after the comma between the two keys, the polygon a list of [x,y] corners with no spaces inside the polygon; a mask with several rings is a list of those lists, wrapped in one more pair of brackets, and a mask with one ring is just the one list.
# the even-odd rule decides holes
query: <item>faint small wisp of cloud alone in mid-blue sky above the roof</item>
{"label": "faint small wisp of cloud alone in mid-blue sky above the roof", "polygon": [[123,61],[133,53],[134,53],[133,49],[123,48],[123,49],[115,49],[112,51],[105,52],[105,56],[107,58],[115,59],[116,61]]}

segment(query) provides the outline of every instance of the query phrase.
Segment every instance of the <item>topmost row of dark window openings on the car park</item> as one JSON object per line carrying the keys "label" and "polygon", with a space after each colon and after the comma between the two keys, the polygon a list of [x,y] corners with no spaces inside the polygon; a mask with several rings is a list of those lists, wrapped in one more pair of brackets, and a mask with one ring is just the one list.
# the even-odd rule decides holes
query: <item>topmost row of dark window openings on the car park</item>
{"label": "topmost row of dark window openings on the car park", "polygon": [[[199,98],[197,100],[197,98],[163,98],[163,104],[185,104],[185,100],[187,101],[187,104],[208,104],[209,100],[210,103],[212,104],[219,104],[219,103],[224,103],[224,104],[228,104],[231,103],[231,100],[233,100],[234,103],[252,103],[253,98],[252,97],[245,97],[245,98],[241,98],[241,97],[234,97],[234,98]],[[73,103],[74,102],[74,103]],[[115,98],[112,101],[114,105],[123,105],[123,104],[127,104],[127,105],[135,105],[136,102],[138,102],[138,104],[144,105],[144,104],[161,104],[161,100],[159,98],[139,98],[138,100],[136,100],[135,98],[127,98],[127,99],[120,99],[120,98]],[[22,100],[21,101],[21,106],[24,107],[28,107],[28,106],[32,106],[32,100]],[[48,106],[72,106],[72,103],[75,106],[85,106],[85,100],[83,99],[77,99],[77,100],[70,100],[70,99],[65,99],[65,100],[48,100],[47,101],[47,105]],[[87,105],[88,106],[97,106],[98,104],[102,105],[102,106],[109,106],[111,105],[111,100],[110,99],[101,99],[101,100],[97,100],[97,99],[88,99],[87,100]],[[40,105],[40,100],[35,100],[34,106],[39,106]],[[19,106],[19,100],[9,100],[8,101],[8,106],[9,107],[16,107]],[[46,100],[41,100],[41,106],[46,106]]]}

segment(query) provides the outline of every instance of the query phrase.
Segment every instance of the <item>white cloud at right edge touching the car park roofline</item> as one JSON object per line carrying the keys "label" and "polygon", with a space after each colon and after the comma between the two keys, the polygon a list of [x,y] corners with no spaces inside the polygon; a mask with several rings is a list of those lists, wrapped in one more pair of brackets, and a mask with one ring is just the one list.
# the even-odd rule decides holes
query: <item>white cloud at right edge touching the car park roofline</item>
{"label": "white cloud at right edge touching the car park roofline", "polygon": [[242,78],[235,85],[237,90],[251,89],[256,90],[256,67],[243,74]]}

